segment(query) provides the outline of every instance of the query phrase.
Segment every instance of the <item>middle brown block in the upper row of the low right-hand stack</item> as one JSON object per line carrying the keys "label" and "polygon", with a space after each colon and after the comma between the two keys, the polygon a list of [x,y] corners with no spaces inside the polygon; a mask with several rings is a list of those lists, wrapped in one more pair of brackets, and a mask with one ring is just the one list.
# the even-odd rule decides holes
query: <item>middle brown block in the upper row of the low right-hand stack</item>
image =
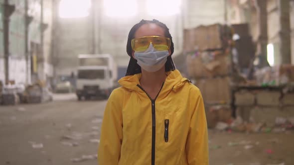
{"label": "middle brown block in the upper row of the low right-hand stack", "polygon": [[256,94],[258,105],[279,106],[281,93],[279,91],[259,91]]}

